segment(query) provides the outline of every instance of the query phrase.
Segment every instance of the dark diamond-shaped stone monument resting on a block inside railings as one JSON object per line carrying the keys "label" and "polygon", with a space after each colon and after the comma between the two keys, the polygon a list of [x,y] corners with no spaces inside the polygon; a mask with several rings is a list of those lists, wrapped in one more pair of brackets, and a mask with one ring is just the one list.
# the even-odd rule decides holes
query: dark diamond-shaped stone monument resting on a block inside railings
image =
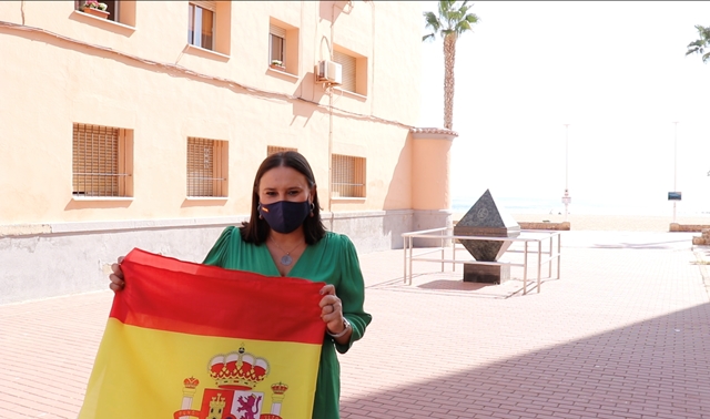
{"label": "dark diamond-shaped stone monument resting on a block inside railings", "polygon": [[[510,237],[520,235],[520,225],[499,207],[486,190],[454,227],[456,236]],[[496,262],[510,247],[509,241],[459,241],[479,262]]]}

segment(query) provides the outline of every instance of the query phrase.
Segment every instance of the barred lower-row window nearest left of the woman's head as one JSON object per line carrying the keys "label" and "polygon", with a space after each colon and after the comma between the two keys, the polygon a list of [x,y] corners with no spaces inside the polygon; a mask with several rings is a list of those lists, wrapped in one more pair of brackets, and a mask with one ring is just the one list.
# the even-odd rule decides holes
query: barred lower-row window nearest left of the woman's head
{"label": "barred lower-row window nearest left of the woman's head", "polygon": [[187,196],[227,196],[227,142],[187,137]]}

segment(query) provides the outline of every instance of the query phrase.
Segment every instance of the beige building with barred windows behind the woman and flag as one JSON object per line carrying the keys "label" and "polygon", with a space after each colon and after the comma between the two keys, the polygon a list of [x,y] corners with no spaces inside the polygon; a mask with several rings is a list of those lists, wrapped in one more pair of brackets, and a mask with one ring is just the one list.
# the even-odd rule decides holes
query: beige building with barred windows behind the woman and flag
{"label": "beige building with barred windows behind the woman and flag", "polygon": [[105,289],[133,247],[200,262],[284,149],[362,253],[450,223],[417,2],[104,3],[0,2],[0,304]]}

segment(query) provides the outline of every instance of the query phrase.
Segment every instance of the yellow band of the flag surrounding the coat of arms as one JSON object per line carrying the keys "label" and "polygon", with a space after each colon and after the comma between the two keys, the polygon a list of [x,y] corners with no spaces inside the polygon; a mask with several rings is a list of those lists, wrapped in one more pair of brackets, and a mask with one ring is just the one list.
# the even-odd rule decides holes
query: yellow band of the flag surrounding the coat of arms
{"label": "yellow band of the flag surrounding the coat of arms", "polygon": [[[100,370],[92,374],[88,386],[100,390],[88,395],[79,418],[171,418],[180,409],[199,410],[203,390],[219,389],[210,376],[210,360],[215,355],[239,351],[240,347],[268,360],[267,377],[254,388],[254,392],[263,392],[261,410],[265,413],[274,401],[271,386],[288,386],[317,370],[321,352],[320,346],[308,344],[194,336],[125,326],[109,319],[95,360]],[[302,361],[280,362],[283,354]],[[199,382],[194,391],[185,386],[186,379]],[[310,418],[314,392],[315,381],[310,386],[288,386],[281,416]],[[190,406],[184,406],[187,397]]]}

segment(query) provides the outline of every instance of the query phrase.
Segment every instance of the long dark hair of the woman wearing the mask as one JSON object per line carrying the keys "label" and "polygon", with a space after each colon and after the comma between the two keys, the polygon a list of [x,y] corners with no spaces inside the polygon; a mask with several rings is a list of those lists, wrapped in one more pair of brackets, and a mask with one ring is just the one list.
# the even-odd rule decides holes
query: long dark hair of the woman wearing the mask
{"label": "long dark hair of the woman wearing the mask", "polygon": [[325,236],[325,227],[321,221],[318,191],[315,188],[315,177],[313,176],[308,161],[306,161],[303,154],[294,151],[274,153],[266,157],[261,166],[258,166],[256,176],[254,176],[254,188],[252,191],[251,217],[248,222],[242,223],[242,238],[244,242],[255,243],[256,245],[266,242],[266,238],[268,238],[271,227],[265,219],[258,217],[258,184],[264,173],[281,166],[291,167],[304,175],[308,182],[308,187],[313,190],[313,216],[308,215],[303,222],[303,233],[307,244],[315,244]]}

